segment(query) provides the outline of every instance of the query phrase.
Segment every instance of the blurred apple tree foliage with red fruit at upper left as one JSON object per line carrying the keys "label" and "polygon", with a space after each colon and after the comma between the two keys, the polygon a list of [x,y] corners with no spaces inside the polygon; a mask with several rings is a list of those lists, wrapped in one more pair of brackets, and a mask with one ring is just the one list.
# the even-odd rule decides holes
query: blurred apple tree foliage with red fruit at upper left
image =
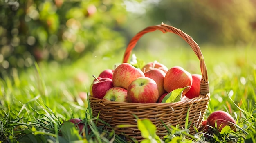
{"label": "blurred apple tree foliage with red fruit at upper left", "polygon": [[34,61],[71,62],[123,46],[121,0],[1,0],[0,70]]}

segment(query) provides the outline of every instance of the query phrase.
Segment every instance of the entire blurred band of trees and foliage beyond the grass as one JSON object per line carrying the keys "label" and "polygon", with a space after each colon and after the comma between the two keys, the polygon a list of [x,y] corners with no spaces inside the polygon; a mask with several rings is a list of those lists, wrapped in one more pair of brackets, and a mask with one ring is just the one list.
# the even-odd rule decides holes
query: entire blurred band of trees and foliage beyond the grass
{"label": "entire blurred band of trees and foliage beyond the grass", "polygon": [[[243,48],[255,44],[256,0],[0,0],[0,71],[111,56],[161,22],[199,44]],[[142,43],[155,46],[158,36]],[[167,41],[164,47],[176,39]]]}

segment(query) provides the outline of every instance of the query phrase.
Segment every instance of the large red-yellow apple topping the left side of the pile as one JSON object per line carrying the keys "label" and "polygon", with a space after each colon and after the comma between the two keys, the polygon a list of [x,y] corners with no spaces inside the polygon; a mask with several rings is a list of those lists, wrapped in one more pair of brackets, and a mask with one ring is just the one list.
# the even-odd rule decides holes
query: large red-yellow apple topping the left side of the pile
{"label": "large red-yellow apple topping the left side of the pile", "polygon": [[129,63],[123,63],[115,68],[113,73],[114,87],[122,87],[126,90],[132,81],[138,77],[145,77],[144,73]]}

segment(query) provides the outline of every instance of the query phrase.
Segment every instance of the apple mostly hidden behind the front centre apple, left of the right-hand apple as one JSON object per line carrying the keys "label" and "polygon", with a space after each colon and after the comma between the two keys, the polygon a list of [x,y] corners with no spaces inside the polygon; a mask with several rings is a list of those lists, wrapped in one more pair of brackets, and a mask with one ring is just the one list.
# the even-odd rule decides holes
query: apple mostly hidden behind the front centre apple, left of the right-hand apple
{"label": "apple mostly hidden behind the front centre apple, left of the right-hand apple", "polygon": [[162,94],[164,94],[164,92],[166,92],[164,90],[164,77],[166,75],[166,73],[164,73],[163,70],[154,68],[152,70],[148,70],[144,73],[145,77],[149,77],[150,79],[153,79],[156,83],[157,83],[157,87],[158,87],[158,92],[159,92],[159,96],[160,97]]}

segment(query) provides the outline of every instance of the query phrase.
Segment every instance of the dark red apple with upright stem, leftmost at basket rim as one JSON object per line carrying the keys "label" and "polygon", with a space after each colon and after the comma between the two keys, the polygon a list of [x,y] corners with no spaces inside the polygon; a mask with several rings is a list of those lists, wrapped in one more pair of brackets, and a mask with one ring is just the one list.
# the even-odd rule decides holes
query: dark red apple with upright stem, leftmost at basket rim
{"label": "dark red apple with upright stem, leftmost at basket rim", "polygon": [[106,77],[95,81],[92,84],[92,96],[102,99],[106,92],[113,87],[112,79]]}

